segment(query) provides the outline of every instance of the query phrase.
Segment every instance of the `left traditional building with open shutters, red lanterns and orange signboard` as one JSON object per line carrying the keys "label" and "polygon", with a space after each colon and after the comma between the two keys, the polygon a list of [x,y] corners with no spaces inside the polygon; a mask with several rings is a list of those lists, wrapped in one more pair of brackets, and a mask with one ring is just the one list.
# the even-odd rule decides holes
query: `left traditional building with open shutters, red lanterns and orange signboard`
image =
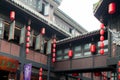
{"label": "left traditional building with open shutters, red lanterns and orange signboard", "polygon": [[58,80],[49,65],[52,39],[61,40],[87,31],[58,9],[61,0],[0,0],[0,79],[24,80],[32,64],[31,80]]}

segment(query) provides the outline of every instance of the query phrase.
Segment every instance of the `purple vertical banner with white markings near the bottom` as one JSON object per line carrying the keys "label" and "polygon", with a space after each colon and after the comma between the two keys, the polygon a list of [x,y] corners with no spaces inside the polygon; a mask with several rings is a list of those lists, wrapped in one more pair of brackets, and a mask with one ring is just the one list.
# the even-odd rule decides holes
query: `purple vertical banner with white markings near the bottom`
{"label": "purple vertical banner with white markings near the bottom", "polygon": [[32,64],[24,65],[24,80],[31,80]]}

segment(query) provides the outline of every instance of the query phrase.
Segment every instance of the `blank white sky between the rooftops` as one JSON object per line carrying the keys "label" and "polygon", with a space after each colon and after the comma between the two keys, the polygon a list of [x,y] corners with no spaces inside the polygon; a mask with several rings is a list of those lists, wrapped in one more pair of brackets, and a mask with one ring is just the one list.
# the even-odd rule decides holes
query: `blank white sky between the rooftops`
{"label": "blank white sky between the rooftops", "polygon": [[97,1],[98,0],[62,0],[59,9],[90,32],[100,29],[100,22],[93,14],[93,4]]}

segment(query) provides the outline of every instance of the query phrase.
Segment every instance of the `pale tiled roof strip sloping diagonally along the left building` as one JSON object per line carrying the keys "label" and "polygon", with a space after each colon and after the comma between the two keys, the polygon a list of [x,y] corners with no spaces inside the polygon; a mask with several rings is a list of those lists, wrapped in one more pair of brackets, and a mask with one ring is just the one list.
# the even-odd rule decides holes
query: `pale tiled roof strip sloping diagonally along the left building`
{"label": "pale tiled roof strip sloping diagonally along the left building", "polygon": [[13,2],[14,4],[18,5],[22,9],[27,10],[28,13],[30,12],[30,13],[34,14],[35,16],[37,16],[42,22],[47,23],[48,25],[50,25],[51,28],[54,28],[55,30],[57,30],[57,31],[59,31],[59,32],[61,32],[63,34],[66,34],[67,36],[72,36],[70,33],[66,32],[64,29],[60,28],[59,26],[54,24],[52,21],[49,21],[48,19],[46,19],[44,16],[42,16],[36,10],[31,9],[27,5],[23,4],[20,0],[8,0],[7,2]]}

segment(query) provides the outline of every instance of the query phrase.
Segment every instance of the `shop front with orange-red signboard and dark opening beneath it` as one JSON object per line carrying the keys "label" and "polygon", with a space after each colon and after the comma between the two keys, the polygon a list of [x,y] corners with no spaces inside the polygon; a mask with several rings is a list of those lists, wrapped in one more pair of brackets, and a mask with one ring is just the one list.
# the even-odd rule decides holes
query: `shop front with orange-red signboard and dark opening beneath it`
{"label": "shop front with orange-red signboard and dark opening beneath it", "polygon": [[0,79],[16,80],[18,66],[18,60],[0,55]]}

